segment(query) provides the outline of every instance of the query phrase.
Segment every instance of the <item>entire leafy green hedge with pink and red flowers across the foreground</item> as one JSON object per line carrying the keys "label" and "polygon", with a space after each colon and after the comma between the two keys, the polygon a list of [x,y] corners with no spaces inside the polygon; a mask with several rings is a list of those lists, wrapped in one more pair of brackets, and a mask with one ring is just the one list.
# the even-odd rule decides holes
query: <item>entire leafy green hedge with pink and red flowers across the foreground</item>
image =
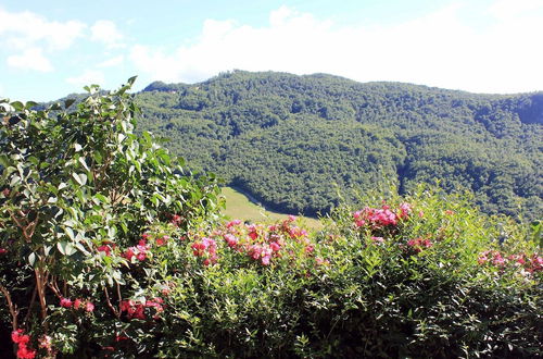
{"label": "entire leafy green hedge with pink and red flowers across the foreground", "polygon": [[20,358],[543,355],[536,224],[432,188],[367,194],[317,233],[220,224],[214,180],[132,134],[129,85],[71,113],[1,103],[0,318]]}

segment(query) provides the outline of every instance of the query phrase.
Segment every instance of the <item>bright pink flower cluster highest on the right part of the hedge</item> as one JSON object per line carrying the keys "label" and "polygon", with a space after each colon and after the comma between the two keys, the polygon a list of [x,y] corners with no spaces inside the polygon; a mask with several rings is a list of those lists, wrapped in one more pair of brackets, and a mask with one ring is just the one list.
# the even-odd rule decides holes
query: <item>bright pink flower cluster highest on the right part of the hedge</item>
{"label": "bright pink flower cluster highest on the right part of the hedge", "polygon": [[366,207],[353,213],[354,223],[357,227],[369,225],[372,230],[396,225],[399,221],[405,220],[412,213],[409,203],[400,205],[396,211],[392,211],[390,206],[382,205],[381,208]]}

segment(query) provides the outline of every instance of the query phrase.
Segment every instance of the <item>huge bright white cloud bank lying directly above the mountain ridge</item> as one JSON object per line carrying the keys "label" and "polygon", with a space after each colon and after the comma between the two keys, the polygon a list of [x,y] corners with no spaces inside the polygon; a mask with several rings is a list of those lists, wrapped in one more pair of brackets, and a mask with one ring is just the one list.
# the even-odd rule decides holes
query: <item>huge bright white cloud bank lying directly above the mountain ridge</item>
{"label": "huge bright white cloud bank lying directly above the mountain ridge", "polygon": [[[521,3],[522,11],[507,11]],[[387,26],[341,26],[281,7],[268,25],[207,20],[192,45],[173,51],[134,46],[130,60],[154,79],[197,82],[222,71],[326,72],[356,81],[400,81],[480,92],[543,89],[543,18],[525,16],[535,0],[500,0],[494,21],[463,21],[466,4]],[[498,10],[495,10],[498,9]],[[502,12],[508,16],[497,16]],[[503,10],[505,9],[505,10]],[[497,12],[496,12],[497,11]]]}

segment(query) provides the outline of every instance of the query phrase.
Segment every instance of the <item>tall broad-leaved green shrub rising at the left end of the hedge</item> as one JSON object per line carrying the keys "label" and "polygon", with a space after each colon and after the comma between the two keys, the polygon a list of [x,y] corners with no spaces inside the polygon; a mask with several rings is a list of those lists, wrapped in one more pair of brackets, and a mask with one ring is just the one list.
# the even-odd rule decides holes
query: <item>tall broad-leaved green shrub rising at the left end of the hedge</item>
{"label": "tall broad-leaved green shrub rising at the left end of the hedge", "polygon": [[[78,326],[115,313],[114,296],[140,290],[134,259],[110,250],[131,248],[172,215],[188,230],[213,219],[217,207],[213,177],[186,173],[148,133],[134,134],[137,108],[126,92],[134,79],[105,95],[87,87],[72,112],[74,101],[39,111],[0,102],[0,289],[9,302],[2,318],[14,331],[63,343],[63,352],[92,334]],[[100,306],[89,317],[56,306],[76,297],[89,312],[99,302],[111,310]]]}

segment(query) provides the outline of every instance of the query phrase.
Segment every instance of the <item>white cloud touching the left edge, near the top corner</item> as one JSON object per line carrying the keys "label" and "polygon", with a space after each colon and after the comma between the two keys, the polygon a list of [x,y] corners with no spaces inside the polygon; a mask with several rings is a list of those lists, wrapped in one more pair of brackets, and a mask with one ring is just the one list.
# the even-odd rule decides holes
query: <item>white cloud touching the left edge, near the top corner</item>
{"label": "white cloud touching the left edge, near the top corner", "polygon": [[51,50],[67,49],[83,36],[85,27],[78,21],[51,22],[28,11],[11,13],[0,9],[0,41],[18,50],[38,42]]}

